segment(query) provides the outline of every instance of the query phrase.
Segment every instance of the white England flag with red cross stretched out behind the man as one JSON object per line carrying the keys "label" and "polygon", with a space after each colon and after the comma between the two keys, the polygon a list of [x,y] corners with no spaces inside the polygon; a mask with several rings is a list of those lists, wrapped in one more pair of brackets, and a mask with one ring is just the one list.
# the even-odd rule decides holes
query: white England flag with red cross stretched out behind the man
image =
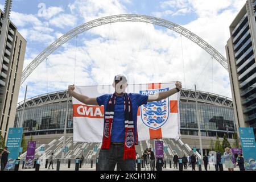
{"label": "white England flag with red cross stretched out behind the man", "polygon": [[[135,93],[133,97],[136,98],[138,94],[157,94],[172,88],[175,88],[175,82],[168,84],[135,84],[128,85],[126,92],[128,94]],[[99,97],[103,94],[114,93],[114,88],[112,85],[76,86],[75,92],[88,97]],[[148,102],[141,106],[137,105],[137,121],[135,122],[137,122],[139,140],[178,139],[180,137],[179,97],[180,94],[175,93],[161,101]],[[72,102],[73,140],[75,142],[102,142],[104,106],[85,105],[74,97]]]}

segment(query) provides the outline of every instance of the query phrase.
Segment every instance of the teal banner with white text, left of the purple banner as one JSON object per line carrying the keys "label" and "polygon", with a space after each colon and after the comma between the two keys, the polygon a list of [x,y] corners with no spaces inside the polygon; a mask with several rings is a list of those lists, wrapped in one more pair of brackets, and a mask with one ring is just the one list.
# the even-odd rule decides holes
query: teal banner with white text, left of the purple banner
{"label": "teal banner with white text, left of the purple banner", "polygon": [[8,162],[6,164],[6,169],[14,169],[15,160],[18,159],[20,144],[22,141],[23,127],[11,127],[9,129],[6,146],[10,151],[8,156]]}

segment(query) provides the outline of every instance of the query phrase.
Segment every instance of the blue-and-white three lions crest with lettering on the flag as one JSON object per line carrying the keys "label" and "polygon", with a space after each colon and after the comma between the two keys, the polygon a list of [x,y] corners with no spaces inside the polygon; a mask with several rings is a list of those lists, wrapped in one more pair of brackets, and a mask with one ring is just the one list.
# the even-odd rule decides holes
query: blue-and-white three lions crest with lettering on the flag
{"label": "blue-and-white three lions crest with lettering on the flag", "polygon": [[[156,94],[169,90],[165,89],[152,89],[140,91],[141,94]],[[170,102],[167,97],[164,100],[148,102],[146,105],[141,106],[141,119],[144,125],[151,129],[159,129],[166,123],[170,113]]]}

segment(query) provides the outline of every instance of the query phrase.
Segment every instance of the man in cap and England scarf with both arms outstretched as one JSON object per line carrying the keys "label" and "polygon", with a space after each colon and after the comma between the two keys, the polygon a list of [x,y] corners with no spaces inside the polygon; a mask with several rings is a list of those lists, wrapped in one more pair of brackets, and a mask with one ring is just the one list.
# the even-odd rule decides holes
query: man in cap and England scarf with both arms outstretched
{"label": "man in cap and England scarf with both arms outstretched", "polygon": [[118,163],[121,171],[136,170],[136,151],[138,145],[137,113],[141,105],[160,101],[180,92],[181,82],[176,88],[156,94],[126,93],[127,78],[124,75],[114,77],[113,94],[103,94],[90,98],[76,93],[75,85],[68,88],[69,96],[85,105],[104,106],[104,134],[98,157],[99,171],[114,171]]}

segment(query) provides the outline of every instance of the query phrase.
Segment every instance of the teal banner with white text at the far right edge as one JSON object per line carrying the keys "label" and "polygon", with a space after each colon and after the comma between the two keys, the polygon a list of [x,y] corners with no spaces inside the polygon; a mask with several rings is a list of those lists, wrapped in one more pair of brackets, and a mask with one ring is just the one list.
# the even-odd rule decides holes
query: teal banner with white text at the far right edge
{"label": "teal banner with white text at the far right edge", "polygon": [[252,127],[238,128],[246,170],[256,169],[256,148]]}

